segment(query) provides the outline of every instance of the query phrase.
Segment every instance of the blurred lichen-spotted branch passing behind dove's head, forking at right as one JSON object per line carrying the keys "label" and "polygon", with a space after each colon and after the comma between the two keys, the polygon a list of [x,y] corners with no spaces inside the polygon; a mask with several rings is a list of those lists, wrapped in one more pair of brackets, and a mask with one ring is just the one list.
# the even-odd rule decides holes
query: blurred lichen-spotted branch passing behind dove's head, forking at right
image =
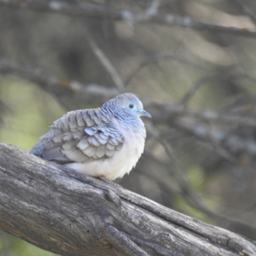
{"label": "blurred lichen-spotted branch passing behind dove's head, forking at right", "polygon": [[[20,66],[3,58],[0,59],[0,73],[13,74],[28,79],[28,81],[38,84],[47,92],[56,95],[56,97],[64,93],[63,89],[76,93],[85,100],[93,100],[93,102],[104,102],[106,99],[118,94],[116,88],[106,88],[96,84],[86,86],[77,81],[49,76],[38,68]],[[256,143],[250,138],[245,140],[239,138],[239,136],[227,134],[218,129],[208,129],[205,125],[198,124],[195,120],[184,120],[181,117],[189,116],[189,118],[198,118],[205,122],[220,122],[254,128],[256,127],[255,118],[223,114],[214,111],[195,111],[178,104],[146,102],[145,106],[152,113],[154,122],[157,124],[167,124],[176,127],[179,131],[196,136],[200,140],[209,141],[215,147],[219,145],[232,154],[248,152],[248,154],[256,155]]]}

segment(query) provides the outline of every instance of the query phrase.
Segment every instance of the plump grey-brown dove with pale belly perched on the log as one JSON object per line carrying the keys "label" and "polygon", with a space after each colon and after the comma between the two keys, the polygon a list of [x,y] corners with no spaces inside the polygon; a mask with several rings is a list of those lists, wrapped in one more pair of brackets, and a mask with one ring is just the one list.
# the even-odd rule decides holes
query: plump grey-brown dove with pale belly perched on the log
{"label": "plump grey-brown dove with pale belly perched on the log", "polygon": [[141,116],[152,117],[136,95],[122,93],[100,108],[63,115],[30,153],[113,184],[131,172],[143,153]]}

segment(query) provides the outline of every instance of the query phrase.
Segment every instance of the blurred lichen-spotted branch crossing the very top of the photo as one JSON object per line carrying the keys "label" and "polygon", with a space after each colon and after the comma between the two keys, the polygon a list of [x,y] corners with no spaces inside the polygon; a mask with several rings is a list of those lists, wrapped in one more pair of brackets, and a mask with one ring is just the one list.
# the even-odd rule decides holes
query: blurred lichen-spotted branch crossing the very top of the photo
{"label": "blurred lichen-spotted branch crossing the very top of the photo", "polygon": [[29,1],[29,0],[0,0],[1,6],[9,8],[30,9],[39,12],[55,12],[72,16],[87,16],[96,19],[124,20],[132,23],[154,23],[165,26],[179,26],[183,28],[196,29],[199,31],[210,31],[214,33],[225,33],[225,35],[237,35],[255,37],[256,31],[246,28],[220,26],[189,16],[173,15],[156,12],[131,12],[129,10],[115,10],[105,6],[92,4],[69,4],[61,1]]}

